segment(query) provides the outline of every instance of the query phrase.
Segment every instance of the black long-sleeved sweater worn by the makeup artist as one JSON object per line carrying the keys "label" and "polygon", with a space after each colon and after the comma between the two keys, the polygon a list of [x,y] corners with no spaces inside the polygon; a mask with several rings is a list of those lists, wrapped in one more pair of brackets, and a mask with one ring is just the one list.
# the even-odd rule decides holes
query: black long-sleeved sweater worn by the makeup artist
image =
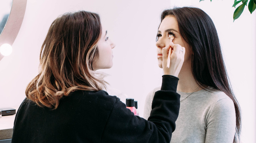
{"label": "black long-sleeved sweater worn by the makeup artist", "polygon": [[169,143],[180,108],[178,79],[163,77],[148,120],[134,116],[116,96],[78,90],[57,109],[27,98],[20,105],[12,143]]}

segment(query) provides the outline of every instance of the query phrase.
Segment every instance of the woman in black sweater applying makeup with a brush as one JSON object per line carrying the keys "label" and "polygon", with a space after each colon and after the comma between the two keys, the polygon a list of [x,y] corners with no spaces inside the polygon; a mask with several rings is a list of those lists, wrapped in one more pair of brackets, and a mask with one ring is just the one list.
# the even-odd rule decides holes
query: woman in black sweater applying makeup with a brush
{"label": "woman in black sweater applying makeup with a brush", "polygon": [[[171,66],[163,68],[162,87],[145,120],[104,91],[106,82],[97,70],[112,67],[115,43],[99,15],[78,11],[58,17],[41,47],[39,74],[17,111],[12,143],[170,142],[180,108],[177,76],[185,49],[169,44]],[[169,49],[161,49],[163,67]]]}

